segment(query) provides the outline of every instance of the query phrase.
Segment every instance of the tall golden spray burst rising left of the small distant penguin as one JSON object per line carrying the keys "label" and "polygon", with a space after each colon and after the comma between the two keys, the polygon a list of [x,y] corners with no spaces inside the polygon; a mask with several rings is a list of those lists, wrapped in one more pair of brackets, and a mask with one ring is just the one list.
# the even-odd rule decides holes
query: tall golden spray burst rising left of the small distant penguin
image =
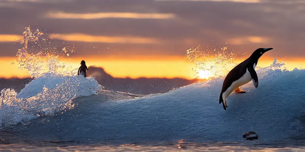
{"label": "tall golden spray burst rising left of the small distant penguin", "polygon": [[18,68],[29,71],[32,78],[38,78],[44,73],[54,73],[59,76],[75,75],[77,68],[66,67],[58,57],[74,52],[74,45],[69,43],[57,44],[48,38],[45,30],[31,30],[26,27],[23,40],[18,44],[16,60]]}

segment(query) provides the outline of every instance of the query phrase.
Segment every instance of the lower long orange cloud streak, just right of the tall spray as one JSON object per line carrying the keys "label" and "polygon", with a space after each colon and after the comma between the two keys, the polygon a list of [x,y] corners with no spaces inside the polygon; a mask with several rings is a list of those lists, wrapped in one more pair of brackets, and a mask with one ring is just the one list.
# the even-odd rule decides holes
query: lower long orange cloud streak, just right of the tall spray
{"label": "lower long orange cloud streak, just right of the tall spray", "polygon": [[51,39],[79,42],[102,42],[102,43],[135,43],[135,44],[157,44],[157,39],[133,36],[93,36],[81,33],[72,34],[50,34]]}

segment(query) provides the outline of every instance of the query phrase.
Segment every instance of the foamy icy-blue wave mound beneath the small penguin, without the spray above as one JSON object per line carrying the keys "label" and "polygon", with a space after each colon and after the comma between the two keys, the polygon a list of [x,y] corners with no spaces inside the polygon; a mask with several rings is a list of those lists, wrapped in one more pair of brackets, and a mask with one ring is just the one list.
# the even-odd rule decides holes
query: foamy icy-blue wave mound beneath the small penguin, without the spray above
{"label": "foamy icy-blue wave mound beneath the small penguin, without the spray above", "polygon": [[46,73],[31,81],[18,94],[13,89],[3,89],[0,96],[2,127],[72,109],[74,98],[94,95],[101,88],[91,77],[58,77]]}

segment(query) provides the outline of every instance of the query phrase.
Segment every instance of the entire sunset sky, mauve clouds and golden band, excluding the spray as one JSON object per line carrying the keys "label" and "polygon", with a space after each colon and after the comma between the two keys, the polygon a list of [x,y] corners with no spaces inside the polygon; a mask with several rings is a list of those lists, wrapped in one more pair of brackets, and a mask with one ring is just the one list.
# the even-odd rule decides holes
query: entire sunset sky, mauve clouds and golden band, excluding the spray
{"label": "entire sunset sky, mauve clouds and golden band, excluding the spray", "polygon": [[278,57],[289,70],[305,68],[303,0],[0,0],[0,22],[3,78],[29,77],[11,65],[27,26],[74,43],[67,65],[85,60],[119,78],[191,79],[195,64],[185,54],[199,44],[246,57],[272,47],[259,65]]}

